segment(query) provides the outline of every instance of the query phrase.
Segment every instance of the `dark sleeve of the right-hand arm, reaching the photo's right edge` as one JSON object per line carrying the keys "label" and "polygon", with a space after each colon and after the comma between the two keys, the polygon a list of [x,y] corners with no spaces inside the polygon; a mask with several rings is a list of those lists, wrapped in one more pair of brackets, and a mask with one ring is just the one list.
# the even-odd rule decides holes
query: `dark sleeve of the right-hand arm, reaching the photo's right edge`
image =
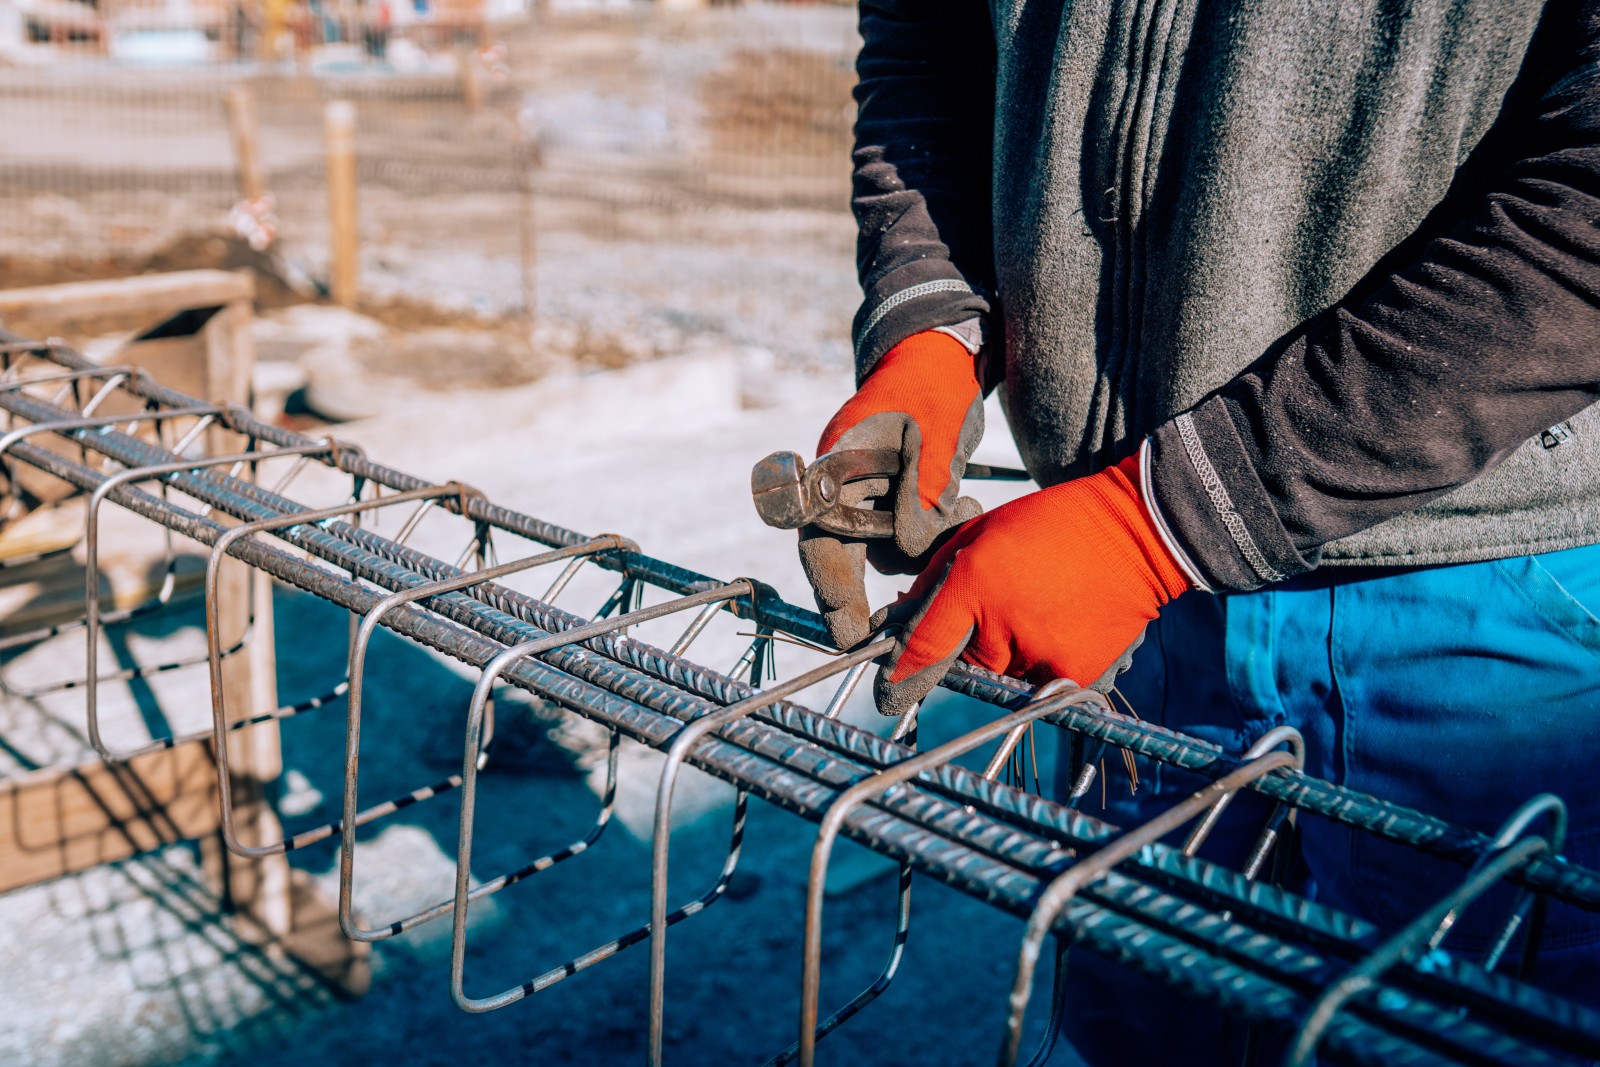
{"label": "dark sleeve of the right-hand arm, reaching the photo's right edge", "polygon": [[1440,211],[1368,285],[1150,442],[1202,576],[1253,589],[1600,398],[1600,3],[1547,10]]}

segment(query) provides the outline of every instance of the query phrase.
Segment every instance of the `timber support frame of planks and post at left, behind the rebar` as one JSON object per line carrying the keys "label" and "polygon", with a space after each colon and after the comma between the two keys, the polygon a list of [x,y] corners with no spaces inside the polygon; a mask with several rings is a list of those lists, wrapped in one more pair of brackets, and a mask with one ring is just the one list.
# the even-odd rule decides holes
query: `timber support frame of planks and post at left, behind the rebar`
{"label": "timber support frame of planks and post at left, behind the rebar", "polygon": [[[136,339],[115,352],[110,362],[142,366],[181,392],[248,403],[254,365],[250,330],[253,294],[254,285],[245,272],[192,270],[80,282],[8,290],[0,294],[0,322],[10,325],[26,318],[29,325],[51,333],[50,326],[58,323],[61,328],[78,330],[106,322],[149,325],[176,310],[206,309],[211,314],[198,334]],[[101,405],[101,411],[115,413],[118,400],[131,403],[128,410],[142,408],[142,403],[126,397],[110,397]],[[246,448],[246,442],[230,430],[213,427],[211,434],[213,453]],[[106,522],[115,523],[118,512],[109,510],[112,514]],[[77,522],[82,523],[82,517]],[[0,537],[0,558],[6,555],[6,549],[16,547],[6,541],[8,537]],[[14,542],[16,537],[10,541]],[[107,545],[117,547],[118,542],[112,537]],[[128,565],[142,576],[149,571],[149,561],[134,547],[126,549],[133,555],[125,560],[123,568],[112,566],[117,550],[122,549],[109,549],[101,557],[107,582],[112,582],[112,605],[139,603],[146,600],[144,589],[123,584],[115,576],[126,571]],[[53,581],[53,571],[46,568],[61,571],[62,581]],[[70,557],[24,563],[6,574],[11,600],[21,609],[0,598],[0,635],[8,627],[34,629],[82,617],[83,574]],[[194,579],[192,571],[189,576]],[[58,585],[61,595],[54,593]],[[198,582],[179,577],[174,595],[192,595],[198,587]],[[3,585],[0,592],[6,592]],[[59,619],[42,614],[51,603],[66,608],[66,614]],[[250,718],[275,709],[270,579],[240,560],[224,560],[219,608],[224,645],[237,643],[250,629],[245,646],[222,661],[222,691],[230,718]],[[232,800],[240,837],[248,843],[278,840],[283,827],[269,797],[283,769],[278,723],[269,720],[230,733],[227,750],[234,769]],[[350,993],[365,992],[370,945],[341,936],[334,901],[307,878],[296,878],[283,854],[243,859],[227,853],[218,827],[216,768],[210,739],[146,753],[128,763],[106,765],[91,760],[78,766],[13,776],[0,781],[0,893],[123,859],[166,841],[200,838],[208,880],[235,915],[248,920],[237,928],[242,936],[269,952],[286,950]]]}

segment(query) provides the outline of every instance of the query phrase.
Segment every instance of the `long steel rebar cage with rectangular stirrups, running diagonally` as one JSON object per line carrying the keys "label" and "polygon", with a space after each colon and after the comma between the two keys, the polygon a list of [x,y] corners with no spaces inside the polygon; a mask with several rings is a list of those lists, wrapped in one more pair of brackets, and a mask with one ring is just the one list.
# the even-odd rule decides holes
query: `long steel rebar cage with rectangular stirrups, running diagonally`
{"label": "long steel rebar cage with rectangular stirrups, running diagonally", "polygon": [[[992,704],[992,720],[917,752],[915,709],[890,737],[838,718],[888,640],[834,653],[816,613],[782,601],[755,579],[717,581],[651,558],[619,534],[578,534],[501,507],[470,486],[422,482],[336,438],[264,424],[242,406],[208,405],[141,371],[101,366],[56,344],[0,336],[0,411],[6,419],[0,435],[0,472],[6,475],[0,504],[16,506],[24,472],[66,483],[86,498],[82,550],[88,558],[82,617],[5,641],[16,648],[82,630],[82,675],[34,689],[3,673],[0,683],[8,693],[24,694],[82,689],[86,736],[109,763],[210,737],[227,848],[240,856],[270,856],[339,837],[344,934],[378,941],[448,918],[450,990],[464,1011],[506,1008],[648,942],[648,1057],[659,1064],[670,973],[667,929],[723,896],[754,797],[819,824],[806,885],[797,1037],[774,1053],[768,1061],[773,1064],[811,1064],[818,1040],[894,979],[910,923],[912,872],[1026,918],[1013,995],[1006,1006],[995,1005],[1002,1064],[1022,1054],[1022,1016],[1046,942],[1053,945],[1058,979],[1069,950],[1110,957],[1262,1033],[1291,1035],[1286,1062],[1293,1064],[1317,1057],[1357,1064],[1557,1064],[1600,1057],[1600,1014],[1499,968],[1517,941],[1520,961],[1534,955],[1539,917],[1549,901],[1600,907],[1600,872],[1560,857],[1565,809],[1552,797],[1531,798],[1491,838],[1304,774],[1301,739],[1291,729],[1272,731],[1251,750],[1234,755],[1120,713],[1098,693],[1066,683],[1035,689],[966,665],[957,665],[942,685]],[[307,472],[338,483],[342,502],[299,502],[291,493],[302,485],[299,478],[310,477]],[[165,574],[142,603],[101,603],[96,560],[107,512],[134,517],[165,539]],[[379,533],[373,525],[384,514],[390,526],[398,526],[394,533]],[[410,544],[424,520],[454,531],[459,553],[451,561]],[[102,672],[99,635],[168,601],[178,573],[174,542],[181,539],[208,553],[205,654]],[[430,544],[445,541],[450,537],[435,536]],[[238,566],[229,560],[347,611],[347,675],[328,680],[310,699],[274,710],[227,707],[224,664],[248,643],[254,621],[251,609],[243,633],[227,633],[219,622],[221,601],[229,595],[221,581],[224,565]],[[550,577],[541,595],[510,587],[512,579],[531,579],[534,571]],[[579,573],[608,574],[611,582],[603,605],[587,616],[557,606]],[[733,621],[749,627],[733,667],[720,672],[690,656],[712,624]],[[478,680],[466,709],[459,773],[374,803],[360,795],[358,777],[363,675],[379,629],[467,664]],[[643,632],[664,637],[651,643]],[[819,665],[774,677],[776,641],[813,646]],[[131,747],[102,729],[102,685],[186,667],[208,672],[210,726]],[[496,877],[474,880],[474,805],[478,774],[493,763],[493,696],[502,686],[525,689],[603,728],[605,787],[582,837]],[[827,701],[822,710],[794,699],[818,691]],[[250,833],[232,817],[229,734],[339,701],[347,717],[342,816],[286,838],[246,840]],[[1064,731],[1062,752],[1077,771],[1075,787],[1059,801],[1029,792],[1024,781],[1022,755],[1037,725]],[[469,992],[469,909],[597,846],[610,822],[618,744],[624,737],[666,753],[656,789],[648,923],[510,989]],[[986,747],[992,755],[982,771],[955,761]],[[1078,809],[1096,776],[1104,776],[1107,749],[1122,753],[1130,766],[1134,758],[1155,761],[1210,784],[1144,825],[1110,825]],[[667,896],[669,848],[674,795],[685,766],[723,779],[738,792],[722,870],[704,893],[675,904]],[[461,790],[454,893],[410,915],[366,923],[352,904],[357,829],[446,790]],[[1245,865],[1229,870],[1200,859],[1197,851],[1240,790],[1266,797],[1272,814]],[[1397,934],[1298,897],[1274,885],[1270,861],[1274,845],[1299,813],[1456,861],[1462,865],[1461,886]],[[1181,843],[1168,843],[1186,829]],[[899,909],[882,974],[824,1016],[818,995],[822,889],[840,837],[899,864]],[[1459,910],[1501,881],[1512,883],[1517,894],[1494,950],[1483,961],[1445,952],[1442,942]],[[1045,1027],[1032,1062],[1050,1054],[1054,1032],[1053,1022]]]}

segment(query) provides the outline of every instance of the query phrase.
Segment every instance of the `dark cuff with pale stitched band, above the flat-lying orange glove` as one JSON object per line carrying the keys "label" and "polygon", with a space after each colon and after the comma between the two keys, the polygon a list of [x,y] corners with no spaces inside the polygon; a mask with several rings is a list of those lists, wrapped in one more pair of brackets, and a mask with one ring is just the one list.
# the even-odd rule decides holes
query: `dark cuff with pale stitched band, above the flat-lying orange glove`
{"label": "dark cuff with pale stitched band, above the flat-lying orange glove", "polygon": [[1290,541],[1219,397],[1150,435],[1149,494],[1205,585],[1259,589],[1315,566]]}

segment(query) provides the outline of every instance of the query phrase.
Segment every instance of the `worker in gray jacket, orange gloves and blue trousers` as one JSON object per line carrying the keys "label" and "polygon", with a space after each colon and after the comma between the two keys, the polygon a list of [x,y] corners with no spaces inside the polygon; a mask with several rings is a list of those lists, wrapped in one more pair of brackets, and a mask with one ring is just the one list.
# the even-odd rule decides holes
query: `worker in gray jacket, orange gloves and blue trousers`
{"label": "worker in gray jacket, orange gloves and blue trousers", "polygon": [[[861,0],[861,34],[859,390],[818,453],[904,474],[893,544],[800,555],[840,646],[902,625],[880,709],[958,657],[1115,681],[1480,832],[1558,793],[1600,864],[1600,3]],[[974,517],[992,387],[1042,488]],[[875,614],[867,561],[915,574]],[[1139,771],[1118,825],[1202,782]],[[1390,931],[1464,878],[1315,817],[1285,859]],[[1555,905],[1531,981],[1600,1005],[1600,915]],[[1093,1064],[1238,1062],[1104,960],[1067,1006]]]}

